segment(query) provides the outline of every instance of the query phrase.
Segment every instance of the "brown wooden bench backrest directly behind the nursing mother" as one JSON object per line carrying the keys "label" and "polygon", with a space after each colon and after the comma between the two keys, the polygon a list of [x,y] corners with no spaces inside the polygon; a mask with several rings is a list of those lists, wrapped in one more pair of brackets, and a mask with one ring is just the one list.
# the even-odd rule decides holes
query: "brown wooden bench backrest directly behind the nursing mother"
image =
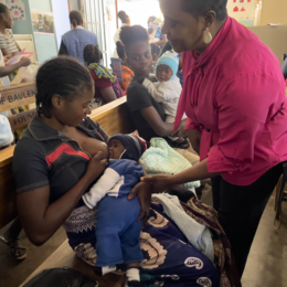
{"label": "brown wooden bench backrest directly behind the nursing mother", "polygon": [[[111,136],[135,131],[126,97],[93,110],[89,117]],[[15,188],[12,178],[13,151],[14,146],[0,151],[0,228],[17,216]]]}

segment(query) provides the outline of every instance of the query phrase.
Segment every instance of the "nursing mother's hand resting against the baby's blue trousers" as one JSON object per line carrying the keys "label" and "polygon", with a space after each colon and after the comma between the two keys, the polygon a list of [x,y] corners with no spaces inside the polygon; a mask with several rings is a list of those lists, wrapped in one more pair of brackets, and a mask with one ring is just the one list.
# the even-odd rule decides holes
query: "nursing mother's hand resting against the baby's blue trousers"
{"label": "nursing mother's hand resting against the baby's blue trousers", "polygon": [[139,204],[140,204],[140,214],[138,217],[138,222],[142,221],[142,225],[147,223],[149,219],[149,208],[151,202],[151,193],[152,189],[149,183],[139,182],[129,193],[128,199],[131,200],[136,195],[138,195]]}

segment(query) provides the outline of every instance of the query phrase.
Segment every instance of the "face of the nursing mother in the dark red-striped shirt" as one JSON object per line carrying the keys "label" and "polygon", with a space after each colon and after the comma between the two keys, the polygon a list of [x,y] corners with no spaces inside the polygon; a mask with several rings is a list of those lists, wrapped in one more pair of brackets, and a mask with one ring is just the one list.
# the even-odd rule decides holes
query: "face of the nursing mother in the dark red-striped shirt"
{"label": "face of the nursing mother in the dark red-striped shirt", "polygon": [[64,99],[55,95],[52,99],[54,116],[62,125],[77,127],[92,113],[89,104],[94,98],[94,89],[75,95],[73,100]]}

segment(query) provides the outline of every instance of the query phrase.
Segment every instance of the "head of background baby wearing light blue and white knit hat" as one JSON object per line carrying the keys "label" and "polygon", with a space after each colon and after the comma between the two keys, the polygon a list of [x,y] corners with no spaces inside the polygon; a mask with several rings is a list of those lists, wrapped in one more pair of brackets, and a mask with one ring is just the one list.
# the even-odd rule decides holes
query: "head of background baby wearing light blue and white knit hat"
{"label": "head of background baby wearing light blue and white knit hat", "polygon": [[179,70],[179,55],[172,51],[166,52],[159,59],[156,70],[156,76],[159,82],[172,81]]}

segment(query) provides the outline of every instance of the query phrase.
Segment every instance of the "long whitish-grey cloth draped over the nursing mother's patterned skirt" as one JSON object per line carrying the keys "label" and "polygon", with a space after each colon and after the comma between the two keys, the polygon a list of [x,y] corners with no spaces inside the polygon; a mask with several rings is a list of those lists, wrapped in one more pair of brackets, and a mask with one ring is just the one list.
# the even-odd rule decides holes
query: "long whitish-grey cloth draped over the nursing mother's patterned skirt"
{"label": "long whitish-grey cloth draped over the nursing mother's patterned skirt", "polygon": [[189,216],[181,206],[178,196],[168,193],[156,194],[164,213],[173,220],[190,244],[214,262],[214,247],[210,228]]}

